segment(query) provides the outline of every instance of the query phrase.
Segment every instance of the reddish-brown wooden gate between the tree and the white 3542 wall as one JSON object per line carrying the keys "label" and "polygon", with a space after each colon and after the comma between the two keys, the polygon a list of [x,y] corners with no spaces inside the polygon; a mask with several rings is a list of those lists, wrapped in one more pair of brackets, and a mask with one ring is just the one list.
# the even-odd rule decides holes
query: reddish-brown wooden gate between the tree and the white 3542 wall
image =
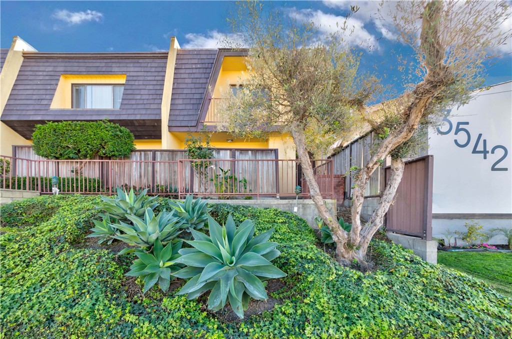
{"label": "reddish-brown wooden gate between the tree and the white 3542 wall", "polygon": [[[432,240],[432,182],[434,157],[406,162],[395,202],[386,216],[386,230]],[[386,168],[386,182],[391,168]]]}

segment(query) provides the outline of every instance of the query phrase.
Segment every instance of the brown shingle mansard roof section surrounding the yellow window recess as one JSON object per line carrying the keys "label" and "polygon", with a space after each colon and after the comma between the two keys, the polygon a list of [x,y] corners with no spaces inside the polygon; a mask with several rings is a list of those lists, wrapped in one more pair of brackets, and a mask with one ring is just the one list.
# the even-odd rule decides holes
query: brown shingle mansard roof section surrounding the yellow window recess
{"label": "brown shingle mansard roof section surrounding the yellow window recess", "polygon": [[[160,138],[166,65],[167,52],[25,52],[2,121],[29,138],[36,123],[109,118],[136,138]],[[50,109],[61,74],[126,74],[120,109]]]}

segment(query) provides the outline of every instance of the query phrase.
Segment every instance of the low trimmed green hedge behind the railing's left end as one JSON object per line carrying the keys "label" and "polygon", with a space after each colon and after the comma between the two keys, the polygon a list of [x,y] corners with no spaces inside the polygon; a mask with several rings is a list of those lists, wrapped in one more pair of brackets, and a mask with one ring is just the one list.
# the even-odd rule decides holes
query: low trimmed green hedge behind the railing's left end
{"label": "low trimmed green hedge behind the railing's left end", "polygon": [[[39,178],[36,176],[29,176],[27,185],[26,176],[11,177],[11,186],[9,186],[9,179],[6,178],[6,188],[8,189],[32,189],[39,190]],[[41,176],[41,189],[46,188],[47,192],[52,191],[52,178],[48,176]],[[0,187],[4,187],[4,178],[0,178]],[[58,177],[57,188],[60,192],[103,192],[103,182],[99,178],[90,177]]]}

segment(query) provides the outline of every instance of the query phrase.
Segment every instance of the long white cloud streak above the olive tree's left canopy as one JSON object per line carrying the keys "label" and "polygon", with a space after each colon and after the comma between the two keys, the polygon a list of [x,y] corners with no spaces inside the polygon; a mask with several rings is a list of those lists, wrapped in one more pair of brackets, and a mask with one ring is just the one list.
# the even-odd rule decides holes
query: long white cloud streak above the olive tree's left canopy
{"label": "long white cloud streak above the olive tree's left canopy", "polygon": [[324,13],[321,10],[291,9],[288,15],[300,23],[314,23],[318,30],[324,34],[331,34],[340,31],[345,27],[343,38],[352,46],[372,50],[378,50],[377,38],[364,27],[364,22],[354,17],[346,20],[344,16],[337,16],[330,13]]}

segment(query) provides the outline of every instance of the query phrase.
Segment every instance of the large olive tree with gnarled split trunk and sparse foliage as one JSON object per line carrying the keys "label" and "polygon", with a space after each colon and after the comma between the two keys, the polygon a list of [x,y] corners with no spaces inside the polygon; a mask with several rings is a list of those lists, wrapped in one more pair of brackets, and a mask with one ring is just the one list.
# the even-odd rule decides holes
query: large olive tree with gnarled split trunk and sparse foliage
{"label": "large olive tree with gnarled split trunk and sparse foliage", "polygon": [[[348,43],[353,33],[349,16],[335,33],[321,36],[314,23],[283,22],[279,10],[265,12],[259,3],[241,3],[232,22],[248,47],[248,76],[236,96],[225,93],[219,128],[245,137],[264,137],[276,129],[291,133],[311,198],[336,243],[337,260],[344,265],[357,260],[366,268],[370,240],[393,202],[402,158],[414,148],[420,125],[437,122],[441,109],[470,99],[482,84],[482,62],[510,36],[499,30],[509,16],[509,7],[501,2],[396,3],[393,26],[401,42],[414,50],[413,71],[420,80],[370,110],[367,103],[381,87],[375,76],[358,71],[364,54]],[[324,204],[309,153],[325,154],[361,124],[378,131],[382,140],[354,173],[352,229],[346,232]],[[362,224],[369,178],[390,155],[389,181],[370,220]]]}

